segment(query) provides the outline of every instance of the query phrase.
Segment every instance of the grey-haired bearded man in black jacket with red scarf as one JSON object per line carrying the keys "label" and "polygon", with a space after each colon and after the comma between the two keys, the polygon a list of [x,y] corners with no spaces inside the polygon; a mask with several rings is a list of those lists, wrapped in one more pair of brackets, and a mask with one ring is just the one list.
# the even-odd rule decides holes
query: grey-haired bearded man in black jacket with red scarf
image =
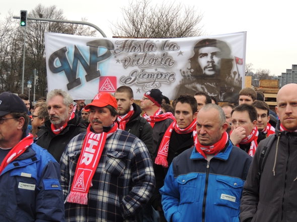
{"label": "grey-haired bearded man in black jacket with red scarf", "polygon": [[47,93],[49,120],[38,131],[36,144],[48,150],[60,162],[69,141],[80,133],[86,132],[86,125],[73,112],[72,97],[61,89]]}

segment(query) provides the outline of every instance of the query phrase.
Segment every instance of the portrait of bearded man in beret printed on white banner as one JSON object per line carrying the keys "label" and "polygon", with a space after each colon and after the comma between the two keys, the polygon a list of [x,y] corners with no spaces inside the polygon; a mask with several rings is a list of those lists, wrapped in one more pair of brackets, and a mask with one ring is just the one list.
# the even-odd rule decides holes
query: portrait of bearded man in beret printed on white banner
{"label": "portrait of bearded man in beret printed on white banner", "polygon": [[224,41],[203,39],[193,48],[189,59],[189,74],[178,86],[177,95],[204,91],[218,101],[236,101],[241,89],[241,77],[232,72],[231,49]]}

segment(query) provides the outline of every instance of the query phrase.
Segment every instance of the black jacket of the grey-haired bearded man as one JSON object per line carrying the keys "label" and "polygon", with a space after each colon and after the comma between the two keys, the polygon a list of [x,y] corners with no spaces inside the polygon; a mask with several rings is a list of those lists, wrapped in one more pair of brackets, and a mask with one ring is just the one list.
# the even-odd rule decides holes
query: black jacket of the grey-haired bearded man
{"label": "black jacket of the grey-haired bearded man", "polygon": [[43,149],[46,149],[59,163],[69,141],[80,133],[87,132],[87,127],[84,120],[80,119],[77,114],[75,118],[68,121],[66,128],[58,135],[52,132],[50,126],[50,120],[46,121],[40,127],[41,130],[37,132],[37,139],[34,142]]}

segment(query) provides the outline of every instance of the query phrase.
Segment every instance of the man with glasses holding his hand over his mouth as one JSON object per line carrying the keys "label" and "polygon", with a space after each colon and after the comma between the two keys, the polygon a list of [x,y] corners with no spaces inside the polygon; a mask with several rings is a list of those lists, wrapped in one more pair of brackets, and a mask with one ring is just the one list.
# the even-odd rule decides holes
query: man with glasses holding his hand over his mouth
{"label": "man with glasses holding his hand over his mouth", "polygon": [[254,156],[258,143],[257,110],[254,106],[242,104],[231,112],[231,135],[233,145]]}

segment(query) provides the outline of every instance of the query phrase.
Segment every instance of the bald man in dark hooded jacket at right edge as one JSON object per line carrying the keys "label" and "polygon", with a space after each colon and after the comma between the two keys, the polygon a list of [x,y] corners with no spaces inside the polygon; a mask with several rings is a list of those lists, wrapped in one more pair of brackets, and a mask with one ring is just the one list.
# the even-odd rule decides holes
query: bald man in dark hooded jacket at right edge
{"label": "bald man in dark hooded jacket at right edge", "polygon": [[[241,199],[240,221],[296,221],[297,218],[297,84],[277,93],[279,121],[275,134],[259,143]],[[268,143],[268,140],[270,143]],[[259,161],[262,173],[258,179]],[[261,158],[262,159],[262,158]]]}

